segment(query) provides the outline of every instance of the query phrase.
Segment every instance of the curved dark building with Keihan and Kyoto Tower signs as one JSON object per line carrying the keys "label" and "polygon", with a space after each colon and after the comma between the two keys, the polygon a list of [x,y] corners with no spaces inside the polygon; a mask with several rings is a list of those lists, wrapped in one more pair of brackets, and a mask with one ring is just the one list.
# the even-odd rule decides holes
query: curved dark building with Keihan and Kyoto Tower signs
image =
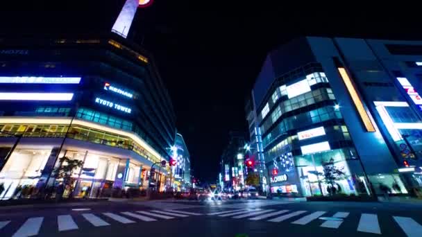
{"label": "curved dark building with Keihan and Kyoto Tower signs", "polygon": [[164,190],[169,166],[149,171],[169,161],[176,118],[149,53],[111,33],[0,41],[1,199],[57,185],[60,157],[83,161],[76,197]]}

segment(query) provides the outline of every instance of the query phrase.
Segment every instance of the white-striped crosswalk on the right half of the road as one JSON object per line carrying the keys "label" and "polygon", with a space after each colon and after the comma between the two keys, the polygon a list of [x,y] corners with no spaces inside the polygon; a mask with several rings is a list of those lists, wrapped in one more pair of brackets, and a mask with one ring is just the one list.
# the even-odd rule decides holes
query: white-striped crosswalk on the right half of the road
{"label": "white-striped crosswalk on the right half of the road", "polygon": [[[221,218],[264,220],[267,222],[279,223],[289,222],[294,225],[309,225],[311,222],[317,222],[319,227],[339,229],[341,224],[351,221],[348,218],[350,213],[339,211],[328,215],[327,211],[296,211],[296,210],[273,210],[273,209],[234,209],[230,211],[219,211],[208,213],[208,216],[218,216]],[[356,216],[356,215],[355,215]],[[369,234],[382,234],[378,214],[376,213],[357,213],[359,222],[357,222],[356,231]],[[413,218],[403,216],[391,216],[396,222],[397,227],[403,231],[403,236],[421,237],[422,225]],[[391,225],[389,226],[391,227]],[[388,231],[386,229],[386,234]]]}

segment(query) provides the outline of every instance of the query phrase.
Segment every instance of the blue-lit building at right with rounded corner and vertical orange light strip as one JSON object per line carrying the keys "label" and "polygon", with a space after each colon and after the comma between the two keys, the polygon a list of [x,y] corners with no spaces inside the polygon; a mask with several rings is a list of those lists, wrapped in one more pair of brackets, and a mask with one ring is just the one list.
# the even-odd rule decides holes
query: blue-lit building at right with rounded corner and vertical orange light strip
{"label": "blue-lit building at right with rounded corner and vertical orange light strip", "polygon": [[251,96],[271,192],[330,195],[334,170],[341,193],[417,195],[421,65],[422,42],[303,37],[271,51]]}

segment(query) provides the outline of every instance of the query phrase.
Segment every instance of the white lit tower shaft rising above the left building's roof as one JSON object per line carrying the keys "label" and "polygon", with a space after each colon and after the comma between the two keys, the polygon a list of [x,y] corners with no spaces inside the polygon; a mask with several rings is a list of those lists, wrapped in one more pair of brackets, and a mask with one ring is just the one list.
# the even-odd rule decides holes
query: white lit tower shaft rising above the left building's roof
{"label": "white lit tower shaft rising above the left building's roof", "polygon": [[152,3],[153,0],[126,0],[111,31],[126,38],[137,8],[146,8],[147,6],[151,6]]}

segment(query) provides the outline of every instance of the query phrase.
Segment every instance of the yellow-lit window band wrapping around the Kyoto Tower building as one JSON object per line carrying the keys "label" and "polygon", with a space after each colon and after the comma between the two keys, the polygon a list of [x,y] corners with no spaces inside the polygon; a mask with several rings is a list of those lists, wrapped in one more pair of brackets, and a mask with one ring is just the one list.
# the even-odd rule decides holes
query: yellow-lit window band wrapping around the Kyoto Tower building
{"label": "yellow-lit window band wrapping around the Kyoto Tower building", "polygon": [[67,130],[69,130],[68,125],[0,124],[0,137],[9,137],[10,134],[22,134],[23,137],[65,137],[67,134],[67,137],[72,139],[133,150],[153,162],[160,161],[158,157],[128,137],[80,125],[72,125],[69,132]]}

